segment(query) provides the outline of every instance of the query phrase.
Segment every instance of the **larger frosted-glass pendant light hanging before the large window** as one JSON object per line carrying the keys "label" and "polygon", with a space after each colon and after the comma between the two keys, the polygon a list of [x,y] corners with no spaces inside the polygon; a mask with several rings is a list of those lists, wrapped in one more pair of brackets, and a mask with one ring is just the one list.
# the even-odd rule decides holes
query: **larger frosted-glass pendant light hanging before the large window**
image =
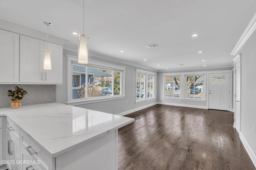
{"label": "larger frosted-glass pendant light hanging before the large window", "polygon": [[[83,23],[84,23],[84,20],[83,20]],[[84,25],[83,25],[83,34],[78,35],[78,63],[80,64],[88,64],[87,39],[89,38],[86,35],[84,35]]]}

